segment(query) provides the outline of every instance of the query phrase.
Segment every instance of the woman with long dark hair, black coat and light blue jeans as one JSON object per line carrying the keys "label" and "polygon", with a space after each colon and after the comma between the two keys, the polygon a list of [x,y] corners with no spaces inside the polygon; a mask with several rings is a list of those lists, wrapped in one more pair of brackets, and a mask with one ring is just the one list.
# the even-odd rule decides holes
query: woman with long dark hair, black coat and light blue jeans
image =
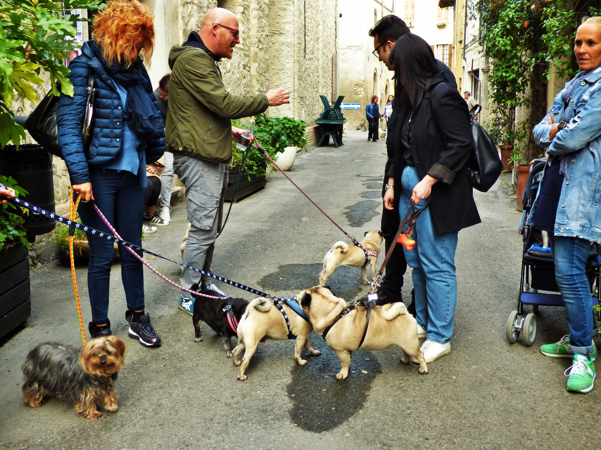
{"label": "woman with long dark hair, black coat and light blue jeans", "polygon": [[[384,206],[392,209],[398,202],[401,218],[411,202],[416,209],[426,208],[413,226],[415,247],[403,250],[413,268],[418,337],[427,337],[421,349],[426,362],[432,362],[451,351],[457,235],[480,223],[467,166],[474,139],[468,107],[445,82],[426,41],[404,35],[391,59],[400,101],[395,103],[399,116]],[[428,197],[429,206],[424,206]]]}

